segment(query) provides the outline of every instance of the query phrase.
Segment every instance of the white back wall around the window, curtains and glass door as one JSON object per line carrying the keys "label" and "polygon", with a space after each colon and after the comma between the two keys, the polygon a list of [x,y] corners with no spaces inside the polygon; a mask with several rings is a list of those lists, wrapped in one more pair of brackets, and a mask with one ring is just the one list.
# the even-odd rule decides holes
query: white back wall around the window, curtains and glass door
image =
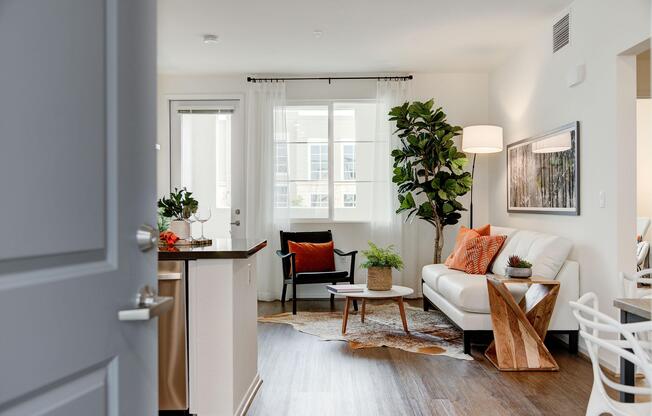
{"label": "white back wall around the window, curtains and glass door", "polygon": [[[458,125],[486,123],[488,119],[488,76],[481,73],[468,74],[414,74],[412,82],[413,99],[435,98],[448,114],[449,122]],[[169,146],[168,146],[168,108],[167,96],[202,94],[207,96],[244,94],[246,74],[229,76],[180,76],[160,75],[158,79],[158,193],[165,194],[169,189]],[[287,98],[295,99],[374,99],[376,82],[334,81],[328,85],[324,81],[288,82]],[[470,169],[470,166],[469,166]],[[476,163],[475,221],[484,224],[488,221],[487,198],[487,160],[478,158]],[[468,199],[468,197],[467,197]],[[468,205],[467,201],[464,201]],[[468,224],[463,217],[461,224]],[[343,250],[364,249],[369,238],[366,224],[296,224],[296,230],[330,229],[335,244]],[[457,227],[446,231],[445,255],[451,250]],[[419,262],[423,265],[432,262],[433,229],[421,222],[415,238],[419,241]],[[360,264],[360,261],[358,261]],[[356,275],[365,280],[365,271],[358,269]],[[300,297],[325,297],[326,291],[319,285],[302,286]]]}

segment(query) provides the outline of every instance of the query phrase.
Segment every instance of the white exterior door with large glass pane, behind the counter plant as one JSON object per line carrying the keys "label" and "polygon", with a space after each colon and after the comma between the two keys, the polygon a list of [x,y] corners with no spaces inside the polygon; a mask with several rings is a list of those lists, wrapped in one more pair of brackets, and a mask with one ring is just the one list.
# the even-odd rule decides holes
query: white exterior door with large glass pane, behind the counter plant
{"label": "white exterior door with large glass pane, behind the counter plant", "polygon": [[170,100],[170,183],[199,201],[193,238],[245,236],[242,112],[240,99]]}

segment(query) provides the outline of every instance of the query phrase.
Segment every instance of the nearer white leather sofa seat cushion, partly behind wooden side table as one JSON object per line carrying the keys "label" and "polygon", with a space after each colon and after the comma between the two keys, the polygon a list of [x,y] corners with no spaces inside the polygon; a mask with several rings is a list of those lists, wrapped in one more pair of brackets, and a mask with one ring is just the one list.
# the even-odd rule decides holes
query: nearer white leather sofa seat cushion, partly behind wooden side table
{"label": "nearer white leather sofa seat cushion, partly behind wooden side table", "polygon": [[[424,279],[425,280],[425,279]],[[520,302],[528,289],[526,284],[509,284],[507,288]],[[490,313],[487,279],[477,274],[443,274],[437,279],[440,295],[458,308],[472,313]]]}

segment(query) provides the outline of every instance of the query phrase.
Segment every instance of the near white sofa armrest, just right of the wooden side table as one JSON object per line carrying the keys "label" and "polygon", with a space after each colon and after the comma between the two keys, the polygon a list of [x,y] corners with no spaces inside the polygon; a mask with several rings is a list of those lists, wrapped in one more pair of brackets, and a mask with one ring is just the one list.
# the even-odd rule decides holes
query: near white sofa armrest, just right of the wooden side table
{"label": "near white sofa armrest, just right of the wooden side table", "polygon": [[569,331],[579,329],[579,323],[573,316],[570,304],[580,297],[580,265],[576,261],[566,260],[561,266],[555,280],[559,281],[559,295],[555,310],[550,320],[550,330]]}

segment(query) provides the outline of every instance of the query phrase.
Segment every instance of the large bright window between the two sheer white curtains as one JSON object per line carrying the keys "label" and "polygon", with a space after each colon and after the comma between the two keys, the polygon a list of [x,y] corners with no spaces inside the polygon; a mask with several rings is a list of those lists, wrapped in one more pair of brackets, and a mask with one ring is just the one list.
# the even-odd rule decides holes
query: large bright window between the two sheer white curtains
{"label": "large bright window between the two sheer white curtains", "polygon": [[276,188],[276,206],[289,206],[293,220],[369,221],[375,102],[301,102],[285,110],[275,169],[289,186]]}

